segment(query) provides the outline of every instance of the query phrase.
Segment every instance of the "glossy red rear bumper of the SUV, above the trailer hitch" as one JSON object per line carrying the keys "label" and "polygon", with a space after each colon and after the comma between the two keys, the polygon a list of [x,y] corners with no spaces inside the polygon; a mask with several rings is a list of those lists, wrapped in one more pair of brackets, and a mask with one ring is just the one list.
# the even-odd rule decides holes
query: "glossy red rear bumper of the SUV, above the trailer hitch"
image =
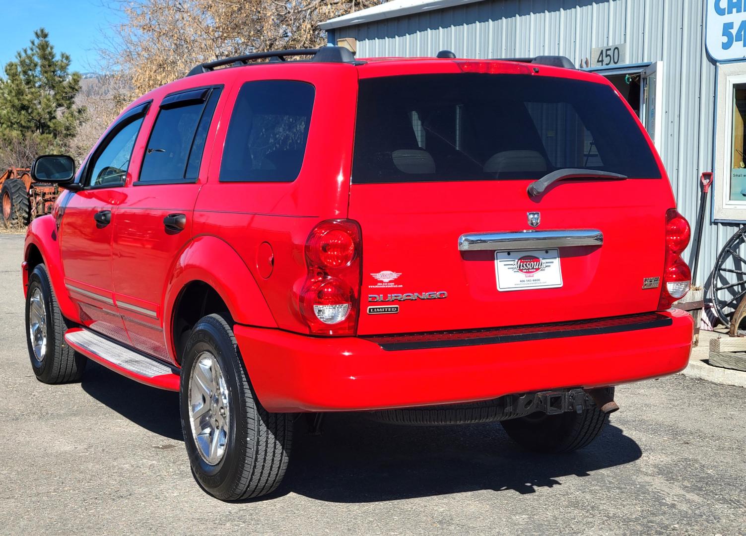
{"label": "glossy red rear bumper of the SUV, above the trailer hitch", "polygon": [[664,327],[496,344],[384,350],[364,338],[316,338],[236,325],[251,383],[270,412],[392,409],[472,402],[565,387],[604,387],[676,373],[692,317]]}

